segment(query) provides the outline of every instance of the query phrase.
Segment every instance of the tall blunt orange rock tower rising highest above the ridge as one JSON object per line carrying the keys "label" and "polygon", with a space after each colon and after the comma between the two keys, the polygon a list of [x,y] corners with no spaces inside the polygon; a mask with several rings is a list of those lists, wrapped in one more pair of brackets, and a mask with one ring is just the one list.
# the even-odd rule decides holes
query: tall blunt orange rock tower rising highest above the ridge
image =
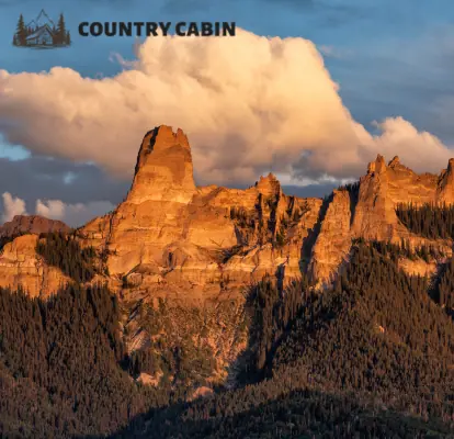
{"label": "tall blunt orange rock tower rising highest above the ridge", "polygon": [[182,130],[167,125],[148,132],[141,143],[129,203],[174,201],[189,203],[195,193],[191,148]]}

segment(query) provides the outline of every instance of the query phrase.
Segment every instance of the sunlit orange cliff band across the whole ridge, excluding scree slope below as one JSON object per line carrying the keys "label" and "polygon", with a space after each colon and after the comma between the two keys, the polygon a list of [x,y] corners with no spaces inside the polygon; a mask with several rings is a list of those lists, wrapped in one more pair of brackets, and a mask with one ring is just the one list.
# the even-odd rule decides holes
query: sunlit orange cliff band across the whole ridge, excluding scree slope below
{"label": "sunlit orange cliff band across the whole ridge, excluding scree slope below", "polygon": [[[325,201],[285,195],[271,173],[246,190],[197,187],[186,135],[159,126],[144,137],[125,201],[80,228],[78,239],[105,266],[95,281],[106,281],[116,292],[150,300],[228,300],[265,274],[284,284],[305,271],[319,285],[329,284],[355,238],[424,244],[400,223],[396,206],[453,202],[453,159],[435,176],[417,175],[398,157],[386,165],[378,155],[357,184]],[[65,225],[16,217],[1,230],[39,233],[65,230]],[[22,282],[37,294],[33,267],[39,258],[32,243],[23,250],[26,257],[11,256],[21,243],[3,249],[1,284]],[[451,243],[435,244],[451,251]],[[29,271],[21,257],[30,261]]]}

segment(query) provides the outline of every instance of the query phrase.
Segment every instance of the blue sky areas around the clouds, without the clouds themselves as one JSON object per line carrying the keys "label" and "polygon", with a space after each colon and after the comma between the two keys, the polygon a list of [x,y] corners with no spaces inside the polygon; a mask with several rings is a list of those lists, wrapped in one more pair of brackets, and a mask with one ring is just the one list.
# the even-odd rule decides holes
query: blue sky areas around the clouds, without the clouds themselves
{"label": "blue sky areas around the clouds, without the clouds themselves", "polygon": [[[32,50],[11,45],[19,14],[29,21],[42,8],[55,19],[65,13],[71,47]],[[113,76],[121,67],[112,54],[133,58],[134,38],[83,38],[77,35],[81,21],[204,20],[235,21],[259,35],[311,40],[340,85],[344,105],[367,130],[373,130],[373,121],[400,115],[454,145],[452,0],[0,0],[0,69],[38,72],[63,66],[82,76]],[[7,145],[0,135],[0,158],[4,166],[10,159],[25,162],[33,157],[20,146]],[[99,175],[104,176],[101,170]],[[2,184],[0,193],[15,192],[33,201],[22,185],[15,189],[14,181],[0,178]],[[124,184],[127,188],[127,182]],[[78,198],[72,191],[70,201],[94,201],[82,192]],[[52,194],[57,195],[66,201],[65,187]],[[41,196],[50,194],[43,192]],[[98,196],[117,202],[123,193],[106,191]]]}

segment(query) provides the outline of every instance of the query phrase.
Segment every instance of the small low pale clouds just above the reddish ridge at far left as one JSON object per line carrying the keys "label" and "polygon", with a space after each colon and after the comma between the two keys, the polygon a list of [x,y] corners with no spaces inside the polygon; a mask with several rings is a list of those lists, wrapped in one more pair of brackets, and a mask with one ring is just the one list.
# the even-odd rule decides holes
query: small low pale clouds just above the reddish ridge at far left
{"label": "small low pale clouds just above the reddish ridge at far left", "polygon": [[[27,215],[26,203],[9,192],[3,195],[3,222],[11,221],[15,215]],[[60,219],[77,227],[86,224],[95,216],[112,211],[114,205],[109,201],[89,202],[87,204],[66,204],[60,200],[36,200],[35,214],[49,219]]]}

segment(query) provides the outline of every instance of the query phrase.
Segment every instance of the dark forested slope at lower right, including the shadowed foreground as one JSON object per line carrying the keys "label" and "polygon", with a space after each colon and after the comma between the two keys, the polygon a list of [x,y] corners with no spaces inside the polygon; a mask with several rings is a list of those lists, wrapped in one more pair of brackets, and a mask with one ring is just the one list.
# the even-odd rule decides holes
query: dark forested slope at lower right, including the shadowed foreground
{"label": "dark forested slope at lower right, including the shadowed foreground", "polygon": [[[454,435],[454,323],[429,297],[425,279],[360,244],[331,291],[299,286],[296,315],[292,293],[263,285],[257,296],[262,340],[256,346],[276,345],[257,363],[268,369],[266,380],[154,410],[117,436]],[[291,324],[282,333],[285,314]]]}

